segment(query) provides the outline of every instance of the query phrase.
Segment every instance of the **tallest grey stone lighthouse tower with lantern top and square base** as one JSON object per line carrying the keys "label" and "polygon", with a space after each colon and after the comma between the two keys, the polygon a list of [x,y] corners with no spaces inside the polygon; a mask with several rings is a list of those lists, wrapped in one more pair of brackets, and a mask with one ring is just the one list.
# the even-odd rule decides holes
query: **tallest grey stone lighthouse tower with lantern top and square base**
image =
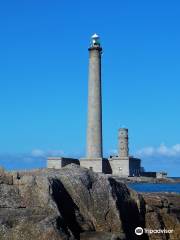
{"label": "tallest grey stone lighthouse tower with lantern top and square base", "polygon": [[88,116],[86,157],[81,159],[81,166],[102,172],[102,94],[101,94],[101,53],[99,36],[91,37],[89,47],[88,79]]}

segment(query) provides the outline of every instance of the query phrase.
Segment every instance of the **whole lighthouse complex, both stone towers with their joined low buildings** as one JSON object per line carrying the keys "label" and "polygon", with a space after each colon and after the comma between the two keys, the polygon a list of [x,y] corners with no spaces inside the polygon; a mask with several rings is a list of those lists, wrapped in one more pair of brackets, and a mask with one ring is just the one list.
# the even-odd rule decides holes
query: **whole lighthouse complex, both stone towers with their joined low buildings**
{"label": "whole lighthouse complex, both stone towers with their joined low buildings", "polygon": [[129,156],[128,129],[120,128],[118,132],[118,155],[103,157],[102,134],[102,93],[101,93],[101,54],[102,47],[99,36],[91,38],[89,50],[88,77],[88,116],[86,156],[81,159],[50,157],[48,168],[60,169],[75,163],[94,172],[113,174],[122,177],[140,176],[141,160]]}

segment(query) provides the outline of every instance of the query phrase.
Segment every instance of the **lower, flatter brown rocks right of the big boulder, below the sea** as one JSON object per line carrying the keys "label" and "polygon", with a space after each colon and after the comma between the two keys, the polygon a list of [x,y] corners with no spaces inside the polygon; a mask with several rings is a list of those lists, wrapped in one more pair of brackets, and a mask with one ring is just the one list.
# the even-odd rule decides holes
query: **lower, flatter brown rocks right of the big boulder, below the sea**
{"label": "lower, flatter brown rocks right of the big boulder, below the sea", "polygon": [[144,193],[147,229],[167,229],[171,233],[149,234],[151,240],[180,239],[180,195]]}

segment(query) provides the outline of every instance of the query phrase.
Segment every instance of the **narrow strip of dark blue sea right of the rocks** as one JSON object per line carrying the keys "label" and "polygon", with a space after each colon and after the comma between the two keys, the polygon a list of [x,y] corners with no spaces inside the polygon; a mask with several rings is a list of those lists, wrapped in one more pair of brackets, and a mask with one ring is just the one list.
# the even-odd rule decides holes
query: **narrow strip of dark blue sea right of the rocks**
{"label": "narrow strip of dark blue sea right of the rocks", "polygon": [[180,194],[180,183],[129,183],[137,192],[170,192]]}

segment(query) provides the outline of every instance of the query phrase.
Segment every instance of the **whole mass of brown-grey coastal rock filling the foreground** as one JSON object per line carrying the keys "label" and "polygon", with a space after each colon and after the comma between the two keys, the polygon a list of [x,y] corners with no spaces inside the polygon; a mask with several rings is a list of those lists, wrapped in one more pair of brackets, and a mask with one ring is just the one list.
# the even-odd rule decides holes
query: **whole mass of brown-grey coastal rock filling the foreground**
{"label": "whole mass of brown-grey coastal rock filling the foreground", "polygon": [[[2,170],[0,239],[179,239],[179,200],[179,195],[138,194],[111,176],[73,164],[61,170]],[[137,236],[139,226],[175,233]]]}

